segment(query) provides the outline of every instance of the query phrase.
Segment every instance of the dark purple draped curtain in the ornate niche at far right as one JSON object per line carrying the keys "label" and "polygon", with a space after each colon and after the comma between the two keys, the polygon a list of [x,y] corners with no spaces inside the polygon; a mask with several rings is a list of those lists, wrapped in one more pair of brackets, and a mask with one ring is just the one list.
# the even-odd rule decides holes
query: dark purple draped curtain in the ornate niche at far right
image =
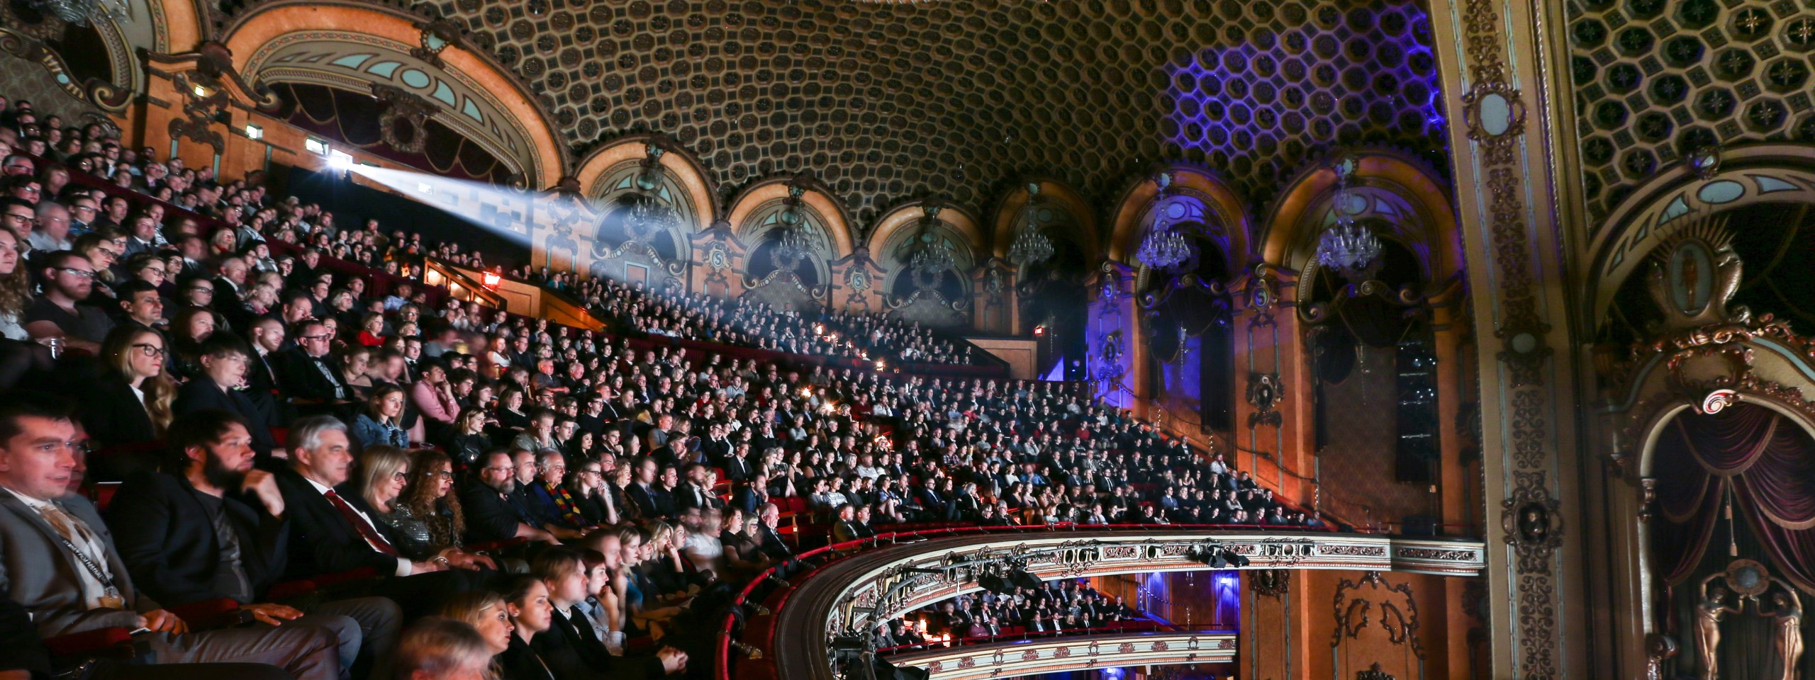
{"label": "dark purple draped curtain in the ornate niche at far right", "polygon": [[1652,477],[1652,557],[1670,586],[1701,564],[1732,495],[1771,571],[1815,593],[1815,439],[1797,423],[1755,404],[1683,413],[1657,441]]}

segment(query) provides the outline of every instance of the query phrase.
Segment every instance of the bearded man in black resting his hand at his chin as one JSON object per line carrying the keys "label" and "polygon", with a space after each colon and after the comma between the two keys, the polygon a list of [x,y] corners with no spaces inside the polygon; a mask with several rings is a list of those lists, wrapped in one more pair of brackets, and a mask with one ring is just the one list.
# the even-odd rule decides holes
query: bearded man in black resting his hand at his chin
{"label": "bearded man in black resting his hand at his chin", "polygon": [[307,615],[258,602],[285,571],[289,522],[276,477],[252,468],[245,421],[196,410],[172,421],[165,439],[171,471],[122,484],[107,515],[120,560],[145,595],[165,606],[232,598],[267,626],[323,627],[339,638],[343,669],[390,656],[401,613],[387,598],[323,602]]}

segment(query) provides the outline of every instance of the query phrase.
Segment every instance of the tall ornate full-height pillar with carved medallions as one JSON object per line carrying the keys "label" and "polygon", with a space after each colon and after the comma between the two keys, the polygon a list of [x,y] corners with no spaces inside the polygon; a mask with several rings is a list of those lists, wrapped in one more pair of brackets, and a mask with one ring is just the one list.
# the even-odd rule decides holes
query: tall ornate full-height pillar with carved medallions
{"label": "tall ornate full-height pillar with carved medallions", "polygon": [[1492,676],[1583,678],[1570,248],[1552,167],[1574,138],[1563,4],[1437,0],[1430,20],[1479,339]]}

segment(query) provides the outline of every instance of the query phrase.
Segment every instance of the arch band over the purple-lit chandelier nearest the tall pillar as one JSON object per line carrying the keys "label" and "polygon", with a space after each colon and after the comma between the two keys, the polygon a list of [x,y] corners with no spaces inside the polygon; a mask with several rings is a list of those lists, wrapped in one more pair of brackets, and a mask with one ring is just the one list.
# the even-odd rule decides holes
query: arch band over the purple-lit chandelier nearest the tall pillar
{"label": "arch band over the purple-lit chandelier nearest the tall pillar", "polygon": [[[1394,236],[1425,259],[1428,281],[1447,281],[1459,274],[1463,270],[1461,230],[1445,183],[1423,163],[1399,152],[1369,149],[1350,154],[1356,160],[1350,190],[1385,199],[1383,203],[1370,199],[1365,210],[1378,210],[1376,205],[1394,205],[1407,212],[1401,216],[1376,212],[1376,216],[1394,223],[1398,227]],[[1312,165],[1287,183],[1267,219],[1260,248],[1261,261],[1287,270],[1305,270],[1318,234],[1330,221],[1334,203],[1336,169],[1330,163]],[[1392,218],[1412,218],[1412,223]]]}

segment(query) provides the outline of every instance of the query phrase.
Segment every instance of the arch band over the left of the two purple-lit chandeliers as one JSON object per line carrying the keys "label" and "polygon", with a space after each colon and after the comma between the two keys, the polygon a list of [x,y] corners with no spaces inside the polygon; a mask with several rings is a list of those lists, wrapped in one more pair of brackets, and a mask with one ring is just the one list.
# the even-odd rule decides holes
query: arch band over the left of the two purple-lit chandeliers
{"label": "arch band over the left of the two purple-lit chandeliers", "polygon": [[[1241,268],[1243,261],[1249,257],[1249,234],[1252,234],[1252,223],[1249,219],[1247,209],[1243,207],[1241,196],[1234,192],[1221,178],[1211,170],[1192,167],[1192,165],[1172,165],[1158,172],[1172,174],[1172,190],[1187,190],[1198,194],[1203,199],[1203,209],[1212,216],[1205,227],[1220,228],[1221,238],[1227,241],[1227,254],[1231,261],[1231,270]],[[1140,239],[1147,236],[1149,214],[1156,205],[1160,196],[1160,185],[1153,176],[1142,178],[1133,187],[1122,192],[1122,199],[1116,201],[1114,228],[1109,236],[1109,259],[1125,263],[1129,267],[1140,267],[1134,261],[1134,250],[1140,248]]]}

